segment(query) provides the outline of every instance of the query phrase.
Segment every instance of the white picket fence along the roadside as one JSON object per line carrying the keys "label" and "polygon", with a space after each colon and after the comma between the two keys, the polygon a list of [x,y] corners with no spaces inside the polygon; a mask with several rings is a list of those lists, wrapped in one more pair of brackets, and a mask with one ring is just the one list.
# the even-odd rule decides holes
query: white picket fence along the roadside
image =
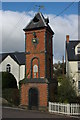
{"label": "white picket fence along the roadside", "polygon": [[68,115],[80,115],[80,105],[49,102],[49,112],[62,113]]}

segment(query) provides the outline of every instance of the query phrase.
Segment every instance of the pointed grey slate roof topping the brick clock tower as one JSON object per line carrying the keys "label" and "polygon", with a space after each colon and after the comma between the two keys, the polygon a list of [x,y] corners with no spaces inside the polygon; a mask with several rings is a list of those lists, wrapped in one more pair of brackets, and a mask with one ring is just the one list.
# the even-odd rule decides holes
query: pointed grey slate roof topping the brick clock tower
{"label": "pointed grey slate roof topping the brick clock tower", "polygon": [[40,29],[45,27],[52,34],[54,34],[48,23],[49,23],[49,19],[48,18],[45,19],[42,13],[38,12],[23,30],[29,31],[29,30]]}

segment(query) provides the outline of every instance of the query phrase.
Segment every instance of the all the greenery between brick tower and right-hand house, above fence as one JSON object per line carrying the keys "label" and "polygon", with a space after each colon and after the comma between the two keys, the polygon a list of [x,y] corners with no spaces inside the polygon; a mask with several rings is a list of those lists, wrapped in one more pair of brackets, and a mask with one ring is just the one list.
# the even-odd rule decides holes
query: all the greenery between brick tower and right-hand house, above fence
{"label": "all the greenery between brick tower and right-hand house, above fence", "polygon": [[64,103],[79,103],[79,98],[77,99],[75,89],[71,82],[72,78],[66,77],[66,64],[58,62],[54,64],[54,68],[53,75],[58,80],[58,89],[54,101]]}

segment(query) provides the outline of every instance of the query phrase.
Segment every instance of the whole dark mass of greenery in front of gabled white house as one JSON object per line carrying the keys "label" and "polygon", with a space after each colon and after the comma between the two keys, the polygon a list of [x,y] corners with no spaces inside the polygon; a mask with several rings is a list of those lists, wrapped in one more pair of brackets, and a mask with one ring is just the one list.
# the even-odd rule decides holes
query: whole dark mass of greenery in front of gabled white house
{"label": "whole dark mass of greenery in front of gabled white house", "polygon": [[[19,90],[15,77],[9,72],[2,72],[0,76],[2,76],[2,98],[10,105],[19,105]],[[3,101],[2,104],[4,105]]]}

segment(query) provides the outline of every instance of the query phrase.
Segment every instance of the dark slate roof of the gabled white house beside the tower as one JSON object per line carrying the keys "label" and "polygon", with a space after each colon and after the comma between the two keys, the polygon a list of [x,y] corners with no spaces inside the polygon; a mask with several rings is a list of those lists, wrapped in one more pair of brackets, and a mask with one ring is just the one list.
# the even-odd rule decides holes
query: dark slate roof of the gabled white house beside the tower
{"label": "dark slate roof of the gabled white house beside the tower", "polygon": [[19,65],[25,65],[25,52],[2,53],[0,54],[0,63],[10,55]]}

